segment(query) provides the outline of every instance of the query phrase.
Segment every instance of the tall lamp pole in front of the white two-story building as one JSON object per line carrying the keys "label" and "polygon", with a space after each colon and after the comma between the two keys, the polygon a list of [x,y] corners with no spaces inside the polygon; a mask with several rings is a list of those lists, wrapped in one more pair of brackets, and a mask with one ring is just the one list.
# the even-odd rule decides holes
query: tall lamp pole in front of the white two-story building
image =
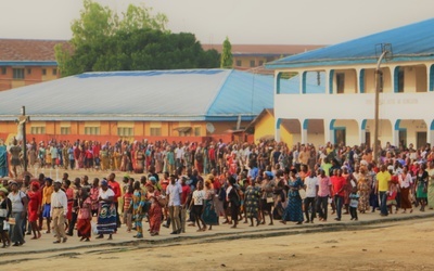
{"label": "tall lamp pole in front of the white two-story building", "polygon": [[[391,43],[381,43],[376,44],[376,47],[381,47],[381,55],[379,56],[379,60],[376,62],[376,68],[375,68],[375,115],[374,115],[374,132],[373,132],[373,160],[379,163],[379,147],[380,147],[380,142],[379,142],[379,124],[380,124],[380,91],[382,89],[382,74],[383,72],[380,69],[381,62],[384,60],[391,60],[392,59],[392,44]],[[375,50],[376,52],[376,50]]]}

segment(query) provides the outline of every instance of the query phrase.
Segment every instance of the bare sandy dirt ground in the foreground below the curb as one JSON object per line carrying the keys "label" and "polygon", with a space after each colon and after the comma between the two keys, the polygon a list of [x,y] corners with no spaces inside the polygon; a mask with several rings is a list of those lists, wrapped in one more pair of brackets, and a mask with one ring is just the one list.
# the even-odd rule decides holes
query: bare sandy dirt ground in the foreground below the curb
{"label": "bare sandy dirt ground in the foreground below the curb", "polygon": [[[2,270],[434,270],[433,219],[307,233],[64,255],[2,264]],[[7,259],[8,256],[4,257]],[[3,257],[2,257],[3,258]]]}

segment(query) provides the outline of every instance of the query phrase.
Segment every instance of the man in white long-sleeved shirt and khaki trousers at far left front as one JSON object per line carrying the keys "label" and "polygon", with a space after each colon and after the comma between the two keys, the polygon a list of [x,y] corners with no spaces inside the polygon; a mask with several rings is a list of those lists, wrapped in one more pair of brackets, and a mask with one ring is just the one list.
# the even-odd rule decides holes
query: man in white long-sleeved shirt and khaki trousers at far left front
{"label": "man in white long-sleeved shirt and khaki trousers at far left front", "polygon": [[54,244],[61,243],[61,237],[63,243],[66,242],[67,237],[65,234],[65,218],[67,214],[67,197],[65,192],[61,190],[62,182],[60,180],[54,181],[54,192],[51,194],[51,210],[50,216],[53,220],[54,234],[56,241]]}

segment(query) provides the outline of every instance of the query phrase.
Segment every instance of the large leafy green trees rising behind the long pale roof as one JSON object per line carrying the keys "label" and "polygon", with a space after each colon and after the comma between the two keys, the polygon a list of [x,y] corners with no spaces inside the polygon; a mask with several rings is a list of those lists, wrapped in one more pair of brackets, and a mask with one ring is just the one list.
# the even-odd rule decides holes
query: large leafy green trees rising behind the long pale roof
{"label": "large leafy green trees rising behind the long pale roof", "polygon": [[72,49],[55,47],[62,76],[86,72],[213,68],[216,50],[204,51],[193,34],[166,30],[167,17],[130,4],[123,18],[107,7],[84,1],[72,24]]}

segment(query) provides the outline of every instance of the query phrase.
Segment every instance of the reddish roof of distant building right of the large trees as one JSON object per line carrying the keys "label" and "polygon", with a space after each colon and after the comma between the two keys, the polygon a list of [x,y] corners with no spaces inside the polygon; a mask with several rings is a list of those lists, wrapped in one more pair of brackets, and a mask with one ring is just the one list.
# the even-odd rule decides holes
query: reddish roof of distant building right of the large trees
{"label": "reddish roof of distant building right of the large trees", "polygon": [[[297,54],[323,48],[312,44],[232,44],[232,54]],[[202,44],[204,50],[215,49],[221,53],[222,44]]]}

